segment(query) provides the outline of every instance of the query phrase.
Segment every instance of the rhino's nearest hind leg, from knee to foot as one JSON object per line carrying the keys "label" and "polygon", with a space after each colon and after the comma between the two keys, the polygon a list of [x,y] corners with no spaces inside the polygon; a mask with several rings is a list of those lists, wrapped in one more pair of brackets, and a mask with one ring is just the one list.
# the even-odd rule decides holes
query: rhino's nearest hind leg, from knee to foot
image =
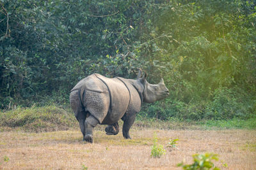
{"label": "rhino's nearest hind leg, from knee to foot", "polygon": [[89,143],[93,142],[93,127],[95,127],[97,124],[99,124],[98,120],[94,118],[92,115],[86,118],[84,122],[84,127],[85,127],[84,140],[85,141]]}

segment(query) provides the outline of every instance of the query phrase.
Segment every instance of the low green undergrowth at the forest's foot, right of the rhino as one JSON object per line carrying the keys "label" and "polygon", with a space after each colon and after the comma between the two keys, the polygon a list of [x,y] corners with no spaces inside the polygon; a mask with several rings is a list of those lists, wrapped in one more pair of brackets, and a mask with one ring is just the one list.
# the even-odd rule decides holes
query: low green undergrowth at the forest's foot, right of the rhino
{"label": "low green undergrowth at the forest's foot, right of the rhino", "polygon": [[144,104],[139,117],[161,120],[246,120],[255,117],[255,101],[239,88],[220,88],[212,93],[212,99],[185,103],[175,99]]}

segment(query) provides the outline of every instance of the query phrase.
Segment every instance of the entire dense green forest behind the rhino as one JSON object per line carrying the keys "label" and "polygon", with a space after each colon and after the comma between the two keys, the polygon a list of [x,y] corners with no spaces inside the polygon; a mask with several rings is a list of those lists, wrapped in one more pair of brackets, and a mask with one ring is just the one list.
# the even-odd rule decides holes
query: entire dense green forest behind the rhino
{"label": "entire dense green forest behind the rhino", "polygon": [[56,104],[92,73],[170,96],[139,118],[256,120],[256,3],[243,0],[0,0],[1,110]]}

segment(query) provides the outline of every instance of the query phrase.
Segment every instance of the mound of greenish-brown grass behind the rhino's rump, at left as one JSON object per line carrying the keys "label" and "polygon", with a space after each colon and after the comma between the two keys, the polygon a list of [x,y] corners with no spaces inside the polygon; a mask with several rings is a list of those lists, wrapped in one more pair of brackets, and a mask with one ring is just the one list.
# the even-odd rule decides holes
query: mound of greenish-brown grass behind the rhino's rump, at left
{"label": "mound of greenish-brown grass behind the rhino's rump, at left", "polygon": [[56,106],[32,106],[0,112],[0,127],[45,132],[66,130],[74,125],[77,125],[74,115]]}

